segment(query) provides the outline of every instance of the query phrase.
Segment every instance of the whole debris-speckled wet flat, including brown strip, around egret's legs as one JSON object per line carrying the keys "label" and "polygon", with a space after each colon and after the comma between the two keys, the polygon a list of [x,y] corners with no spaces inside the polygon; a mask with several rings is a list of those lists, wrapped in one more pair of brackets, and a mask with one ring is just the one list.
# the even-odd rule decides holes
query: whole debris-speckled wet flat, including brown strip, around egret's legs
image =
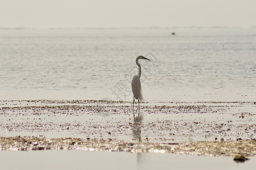
{"label": "whole debris-speckled wet flat, including brown strip, around egret's legs", "polygon": [[256,154],[254,102],[0,101],[1,150]]}

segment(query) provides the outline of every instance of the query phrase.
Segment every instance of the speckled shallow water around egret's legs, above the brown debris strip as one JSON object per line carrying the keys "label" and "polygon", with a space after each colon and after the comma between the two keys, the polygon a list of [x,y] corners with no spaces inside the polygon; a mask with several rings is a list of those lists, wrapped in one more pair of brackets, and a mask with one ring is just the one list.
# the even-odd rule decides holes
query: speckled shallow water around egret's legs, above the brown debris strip
{"label": "speckled shallow water around egret's legs, above the brown debris strip", "polygon": [[[92,100],[1,101],[2,137],[103,138],[126,142],[236,141],[255,136],[254,102],[131,103]],[[215,139],[217,138],[217,139]]]}

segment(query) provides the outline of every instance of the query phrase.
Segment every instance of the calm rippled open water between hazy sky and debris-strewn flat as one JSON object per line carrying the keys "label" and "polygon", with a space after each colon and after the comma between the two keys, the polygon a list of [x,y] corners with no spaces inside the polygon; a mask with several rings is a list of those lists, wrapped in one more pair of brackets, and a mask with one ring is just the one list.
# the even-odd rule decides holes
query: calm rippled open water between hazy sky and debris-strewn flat
{"label": "calm rippled open water between hazy sky and debris-strewn flat", "polygon": [[[175,32],[176,35],[171,35]],[[0,100],[256,99],[256,28],[0,29]]]}

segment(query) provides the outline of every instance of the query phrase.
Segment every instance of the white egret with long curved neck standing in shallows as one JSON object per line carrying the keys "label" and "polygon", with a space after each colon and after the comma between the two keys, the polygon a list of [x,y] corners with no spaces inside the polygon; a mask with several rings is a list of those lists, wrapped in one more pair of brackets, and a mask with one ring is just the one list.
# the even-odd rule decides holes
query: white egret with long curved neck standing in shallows
{"label": "white egret with long curved neck standing in shallows", "polygon": [[[135,99],[137,99],[139,101],[139,116],[140,116],[140,100],[143,100],[142,97],[142,90],[141,90],[141,84],[140,84],[140,76],[141,76],[141,66],[139,63],[139,59],[148,59],[146,57],[143,56],[139,56],[136,58],[136,64],[139,67],[139,74],[133,76],[132,78],[132,93],[133,93],[133,116],[134,116],[134,102]],[[150,61],[150,59],[148,59]]]}

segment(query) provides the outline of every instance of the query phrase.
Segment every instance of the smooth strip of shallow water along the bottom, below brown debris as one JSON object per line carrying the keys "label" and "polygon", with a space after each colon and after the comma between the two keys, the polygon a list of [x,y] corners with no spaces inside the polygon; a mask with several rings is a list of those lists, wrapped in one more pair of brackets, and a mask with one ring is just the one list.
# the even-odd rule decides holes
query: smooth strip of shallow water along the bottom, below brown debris
{"label": "smooth strip of shallow water along the bottom, below brown debris", "polygon": [[3,169],[255,169],[255,157],[249,157],[246,163],[236,163],[230,157],[179,154],[83,151],[1,153]]}

